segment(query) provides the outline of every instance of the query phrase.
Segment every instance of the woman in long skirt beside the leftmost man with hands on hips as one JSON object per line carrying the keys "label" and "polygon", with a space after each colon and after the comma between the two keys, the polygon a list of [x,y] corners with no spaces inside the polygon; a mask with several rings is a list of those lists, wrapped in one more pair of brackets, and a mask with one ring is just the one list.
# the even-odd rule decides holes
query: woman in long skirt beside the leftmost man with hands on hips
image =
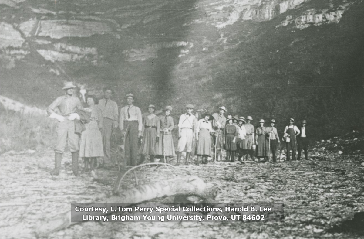
{"label": "woman in long skirt beside the leftmost man with hands on hips", "polygon": [[87,111],[90,114],[90,122],[84,124],[85,130],[81,134],[80,142],[80,157],[84,159],[85,168],[84,171],[88,171],[88,164],[90,162],[91,171],[94,170],[97,157],[104,157],[104,149],[102,145],[102,135],[99,129],[100,120],[102,120],[102,115],[100,115],[98,99],[95,95],[88,95],[86,97],[88,108]]}

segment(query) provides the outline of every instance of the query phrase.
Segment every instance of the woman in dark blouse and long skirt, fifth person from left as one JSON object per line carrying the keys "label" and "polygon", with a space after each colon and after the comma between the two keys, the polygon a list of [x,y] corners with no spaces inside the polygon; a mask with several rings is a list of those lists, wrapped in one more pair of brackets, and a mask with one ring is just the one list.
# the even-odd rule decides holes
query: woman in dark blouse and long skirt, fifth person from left
{"label": "woman in dark blouse and long skirt, fifth person from left", "polygon": [[144,119],[142,135],[143,142],[140,149],[142,161],[146,155],[150,156],[150,162],[154,162],[157,153],[157,142],[159,142],[160,119],[154,114],[154,105],[148,106],[149,115]]}

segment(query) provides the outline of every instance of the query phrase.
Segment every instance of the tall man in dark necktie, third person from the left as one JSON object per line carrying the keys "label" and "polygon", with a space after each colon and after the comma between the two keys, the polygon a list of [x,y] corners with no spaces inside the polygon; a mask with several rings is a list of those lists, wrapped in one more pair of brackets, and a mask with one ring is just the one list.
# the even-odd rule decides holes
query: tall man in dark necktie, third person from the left
{"label": "tall man in dark necktie, third person from the left", "polygon": [[110,99],[114,90],[111,87],[104,87],[104,98],[99,100],[99,108],[102,112],[102,143],[104,147],[104,163],[111,164],[111,133],[118,127],[119,111],[115,101]]}

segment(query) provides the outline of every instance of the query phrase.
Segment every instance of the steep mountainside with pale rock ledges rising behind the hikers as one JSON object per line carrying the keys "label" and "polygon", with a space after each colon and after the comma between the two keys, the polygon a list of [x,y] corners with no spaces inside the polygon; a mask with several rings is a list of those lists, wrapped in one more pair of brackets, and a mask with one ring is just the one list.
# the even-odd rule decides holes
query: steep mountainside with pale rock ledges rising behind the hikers
{"label": "steep mountainside with pale rock ledges rising behind the hikers", "polygon": [[[143,105],[176,104],[180,110],[193,101],[286,117],[285,108],[297,110],[314,97],[302,93],[292,106],[291,97],[301,93],[285,87],[342,85],[338,75],[361,74],[355,66],[356,75],[345,72],[337,59],[361,48],[357,20],[363,11],[355,6],[362,3],[0,0],[0,94],[44,106],[60,94],[63,81],[72,80],[87,83],[93,93],[112,85],[120,104],[132,91]],[[332,52],[330,44],[339,50]],[[265,102],[260,93],[270,96],[272,87],[281,87],[282,98]],[[327,104],[315,100],[320,103],[302,117]]]}

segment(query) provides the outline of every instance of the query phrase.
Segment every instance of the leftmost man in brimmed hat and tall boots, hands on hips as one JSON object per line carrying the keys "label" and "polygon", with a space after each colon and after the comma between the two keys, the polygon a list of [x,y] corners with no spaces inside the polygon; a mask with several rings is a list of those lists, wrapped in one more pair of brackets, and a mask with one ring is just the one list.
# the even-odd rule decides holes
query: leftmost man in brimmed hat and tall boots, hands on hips
{"label": "leftmost man in brimmed hat and tall boots, hands on hips", "polygon": [[76,86],[73,82],[64,83],[63,90],[65,94],[58,97],[47,108],[47,113],[51,118],[58,119],[57,127],[57,143],[55,147],[55,168],[51,172],[52,175],[59,175],[62,161],[62,154],[68,141],[68,148],[72,153],[72,171],[78,176],[78,158],[79,158],[79,135],[75,133],[75,122],[69,120],[70,114],[76,110],[82,109],[82,103],[79,98],[74,97],[74,89]]}

